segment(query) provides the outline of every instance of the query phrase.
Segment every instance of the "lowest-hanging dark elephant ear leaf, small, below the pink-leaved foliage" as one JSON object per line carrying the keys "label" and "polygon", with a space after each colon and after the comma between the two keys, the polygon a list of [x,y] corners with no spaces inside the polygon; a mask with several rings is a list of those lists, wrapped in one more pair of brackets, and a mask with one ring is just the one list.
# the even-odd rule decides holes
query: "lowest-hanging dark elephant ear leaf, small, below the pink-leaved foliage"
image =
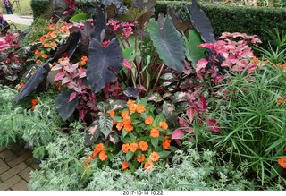
{"label": "lowest-hanging dark elephant ear leaf, small, below the pink-leaved foliage", "polygon": [[78,96],[70,101],[71,93],[74,93],[74,91],[62,88],[61,93],[55,98],[55,108],[63,121],[66,121],[72,115],[78,105]]}

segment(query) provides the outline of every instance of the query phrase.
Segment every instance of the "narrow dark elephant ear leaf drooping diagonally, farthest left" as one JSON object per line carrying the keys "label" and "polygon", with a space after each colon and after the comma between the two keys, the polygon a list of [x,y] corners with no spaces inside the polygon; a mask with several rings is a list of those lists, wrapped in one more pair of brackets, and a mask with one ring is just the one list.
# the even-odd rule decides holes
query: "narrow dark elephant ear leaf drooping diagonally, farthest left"
{"label": "narrow dark elephant ear leaf drooping diagonally, farthest left", "polygon": [[17,98],[15,98],[16,102],[19,102],[23,98],[29,96],[30,93],[37,89],[40,83],[46,79],[48,72],[51,70],[48,65],[49,63],[50,61],[47,61],[46,64],[37,68],[36,72],[29,78],[25,86],[23,86]]}

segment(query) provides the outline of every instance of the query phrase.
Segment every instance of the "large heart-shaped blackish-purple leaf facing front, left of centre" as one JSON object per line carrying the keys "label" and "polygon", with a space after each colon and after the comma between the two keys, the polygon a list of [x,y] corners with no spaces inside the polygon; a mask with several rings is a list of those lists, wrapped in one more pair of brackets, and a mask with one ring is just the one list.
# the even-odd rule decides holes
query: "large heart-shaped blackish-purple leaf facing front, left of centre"
{"label": "large heart-shaped blackish-purple leaf facing front, left of centre", "polygon": [[87,79],[91,89],[97,93],[106,84],[115,79],[123,63],[122,50],[117,39],[102,47],[97,39],[92,38],[88,49]]}

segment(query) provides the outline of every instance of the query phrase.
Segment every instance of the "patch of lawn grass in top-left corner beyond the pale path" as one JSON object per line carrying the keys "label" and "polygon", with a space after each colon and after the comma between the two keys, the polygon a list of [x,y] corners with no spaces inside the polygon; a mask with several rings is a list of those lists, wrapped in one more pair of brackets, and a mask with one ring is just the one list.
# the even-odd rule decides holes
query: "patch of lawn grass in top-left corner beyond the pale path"
{"label": "patch of lawn grass in top-left corner beyond the pale path", "polygon": [[[10,0],[11,3],[14,2],[14,0]],[[19,0],[19,4],[20,4],[20,9],[21,9],[21,12],[19,9],[16,9],[16,2],[13,3],[13,8],[14,8],[14,11],[13,13],[16,13],[16,14],[19,14],[19,15],[32,15],[33,12],[32,12],[32,8],[30,6],[30,2],[31,0]],[[6,14],[6,10],[4,9],[4,4],[3,4],[3,1],[0,2],[0,13],[3,13],[3,14]]]}

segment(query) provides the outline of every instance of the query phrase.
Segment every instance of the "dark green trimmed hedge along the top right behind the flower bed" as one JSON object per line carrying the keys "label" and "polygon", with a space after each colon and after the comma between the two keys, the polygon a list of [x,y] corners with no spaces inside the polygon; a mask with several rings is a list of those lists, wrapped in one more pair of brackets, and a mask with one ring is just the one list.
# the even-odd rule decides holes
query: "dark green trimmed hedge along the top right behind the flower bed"
{"label": "dark green trimmed hedge along the top right behind the flower bed", "polygon": [[[189,15],[185,12],[183,4],[190,9],[189,2],[164,1],[156,4],[156,15],[166,14],[170,7],[174,7],[177,13],[189,21]],[[281,33],[286,32],[286,9],[274,7],[247,7],[234,6],[231,4],[203,4],[202,10],[205,11],[210,19],[214,35],[220,36],[223,32],[241,32],[248,35],[257,35],[263,42],[261,47],[266,47],[268,41],[275,46],[273,37],[269,32],[277,28]]]}

